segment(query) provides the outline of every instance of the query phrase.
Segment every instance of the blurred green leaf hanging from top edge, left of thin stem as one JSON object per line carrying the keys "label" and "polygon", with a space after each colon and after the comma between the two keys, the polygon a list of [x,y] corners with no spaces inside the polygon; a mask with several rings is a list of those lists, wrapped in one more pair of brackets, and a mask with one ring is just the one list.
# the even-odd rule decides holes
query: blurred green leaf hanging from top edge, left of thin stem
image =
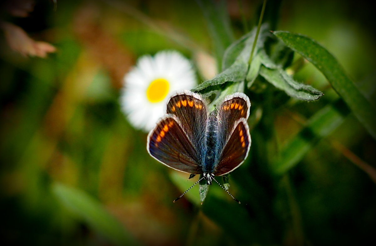
{"label": "blurred green leaf hanging from top edge, left of thin stem", "polygon": [[214,43],[218,68],[221,68],[225,49],[234,41],[226,2],[221,0],[197,0],[208,24],[209,35]]}

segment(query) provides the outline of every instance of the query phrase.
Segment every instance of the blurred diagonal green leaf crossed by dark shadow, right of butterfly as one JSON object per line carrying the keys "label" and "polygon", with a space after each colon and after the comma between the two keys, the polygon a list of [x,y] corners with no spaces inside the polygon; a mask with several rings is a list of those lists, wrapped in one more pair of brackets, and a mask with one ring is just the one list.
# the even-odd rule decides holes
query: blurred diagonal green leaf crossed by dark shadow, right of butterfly
{"label": "blurred diagonal green leaf crossed by dark shadow, right of butterfly", "polygon": [[280,151],[276,161],[271,165],[274,173],[281,175],[294,167],[318,140],[328,136],[335,130],[348,114],[349,111],[347,107],[344,107],[342,100],[327,105],[318,111],[309,119],[306,127]]}

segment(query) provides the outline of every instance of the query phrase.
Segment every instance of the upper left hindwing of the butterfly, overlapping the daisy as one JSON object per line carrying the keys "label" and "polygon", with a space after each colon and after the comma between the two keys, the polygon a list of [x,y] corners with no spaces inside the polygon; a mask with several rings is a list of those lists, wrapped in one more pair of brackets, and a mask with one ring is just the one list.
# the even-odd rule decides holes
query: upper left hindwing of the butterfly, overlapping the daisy
{"label": "upper left hindwing of the butterfly, overlapping the daisy", "polygon": [[166,111],[179,119],[186,136],[204,158],[208,111],[202,96],[191,91],[177,92],[168,101]]}

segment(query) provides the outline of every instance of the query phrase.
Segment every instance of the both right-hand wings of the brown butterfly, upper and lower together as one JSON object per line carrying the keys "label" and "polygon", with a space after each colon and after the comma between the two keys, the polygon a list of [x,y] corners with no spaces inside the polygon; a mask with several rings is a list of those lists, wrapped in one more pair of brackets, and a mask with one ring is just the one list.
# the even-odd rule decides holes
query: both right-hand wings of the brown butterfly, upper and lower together
{"label": "both right-hand wings of the brown butterfly, upper and lower together", "polygon": [[217,108],[218,164],[215,175],[227,174],[243,163],[248,155],[251,139],[247,119],[250,101],[246,94],[228,95]]}

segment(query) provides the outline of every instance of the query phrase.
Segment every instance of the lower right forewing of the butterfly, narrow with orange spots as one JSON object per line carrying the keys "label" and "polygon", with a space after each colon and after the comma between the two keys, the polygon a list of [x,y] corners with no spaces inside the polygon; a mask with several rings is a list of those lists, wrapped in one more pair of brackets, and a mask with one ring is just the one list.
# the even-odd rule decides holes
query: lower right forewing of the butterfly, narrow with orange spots
{"label": "lower right forewing of the butterfly, narrow with orange spots", "polygon": [[241,118],[234,125],[232,134],[221,152],[218,165],[214,168],[216,176],[233,171],[247,158],[251,145],[247,121]]}

